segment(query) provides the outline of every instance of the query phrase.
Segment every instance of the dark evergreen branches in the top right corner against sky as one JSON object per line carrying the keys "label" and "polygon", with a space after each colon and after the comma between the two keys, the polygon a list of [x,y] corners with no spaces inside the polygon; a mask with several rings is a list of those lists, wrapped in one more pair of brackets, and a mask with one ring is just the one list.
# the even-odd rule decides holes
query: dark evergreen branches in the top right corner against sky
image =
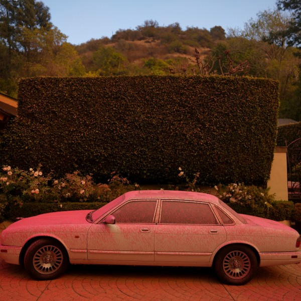
{"label": "dark evergreen branches in the top right corner against sky", "polygon": [[278,0],[279,10],[290,11],[292,20],[284,34],[289,38],[289,44],[301,47],[301,2],[300,0]]}

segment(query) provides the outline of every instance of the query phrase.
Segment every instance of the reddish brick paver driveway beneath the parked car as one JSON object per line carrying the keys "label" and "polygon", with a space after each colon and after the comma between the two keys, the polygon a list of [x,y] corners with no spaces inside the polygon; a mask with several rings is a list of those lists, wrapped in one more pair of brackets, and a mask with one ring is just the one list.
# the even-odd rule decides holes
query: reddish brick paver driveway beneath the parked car
{"label": "reddish brick paver driveway beneath the parked car", "polygon": [[32,280],[0,261],[0,300],[301,300],[301,264],[262,267],[243,286],[221,284],[210,268],[71,266],[55,280]]}

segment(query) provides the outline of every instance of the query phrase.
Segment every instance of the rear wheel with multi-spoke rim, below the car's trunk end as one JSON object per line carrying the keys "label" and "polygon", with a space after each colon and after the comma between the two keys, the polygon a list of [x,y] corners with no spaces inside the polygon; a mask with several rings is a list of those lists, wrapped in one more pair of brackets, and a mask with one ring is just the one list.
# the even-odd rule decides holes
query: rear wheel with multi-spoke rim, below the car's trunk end
{"label": "rear wheel with multi-spoke rim, below the car's trunk end", "polygon": [[216,256],[215,272],[224,283],[242,285],[249,282],[256,273],[257,258],[247,246],[227,246]]}

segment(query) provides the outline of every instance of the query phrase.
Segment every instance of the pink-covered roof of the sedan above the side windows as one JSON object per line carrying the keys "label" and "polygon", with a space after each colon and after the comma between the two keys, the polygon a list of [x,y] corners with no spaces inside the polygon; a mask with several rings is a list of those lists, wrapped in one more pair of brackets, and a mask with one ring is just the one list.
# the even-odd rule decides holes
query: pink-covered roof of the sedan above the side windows
{"label": "pink-covered roof of the sedan above the side windows", "polygon": [[137,190],[124,194],[125,201],[133,199],[193,200],[218,204],[218,198],[213,195],[179,190]]}

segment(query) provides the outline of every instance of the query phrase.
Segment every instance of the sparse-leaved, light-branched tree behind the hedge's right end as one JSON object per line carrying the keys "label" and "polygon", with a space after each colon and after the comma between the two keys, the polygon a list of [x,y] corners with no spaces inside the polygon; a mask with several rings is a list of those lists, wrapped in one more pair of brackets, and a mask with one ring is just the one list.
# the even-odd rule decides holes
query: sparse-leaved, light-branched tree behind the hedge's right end
{"label": "sparse-leaved, light-branched tree behind the hedge's right end", "polygon": [[248,59],[252,75],[279,80],[279,116],[282,118],[293,118],[290,114],[294,111],[298,86],[299,59],[284,34],[291,21],[291,16],[281,11],[259,12],[257,19],[245,24],[244,30],[230,31],[227,39],[231,53],[240,53]]}

